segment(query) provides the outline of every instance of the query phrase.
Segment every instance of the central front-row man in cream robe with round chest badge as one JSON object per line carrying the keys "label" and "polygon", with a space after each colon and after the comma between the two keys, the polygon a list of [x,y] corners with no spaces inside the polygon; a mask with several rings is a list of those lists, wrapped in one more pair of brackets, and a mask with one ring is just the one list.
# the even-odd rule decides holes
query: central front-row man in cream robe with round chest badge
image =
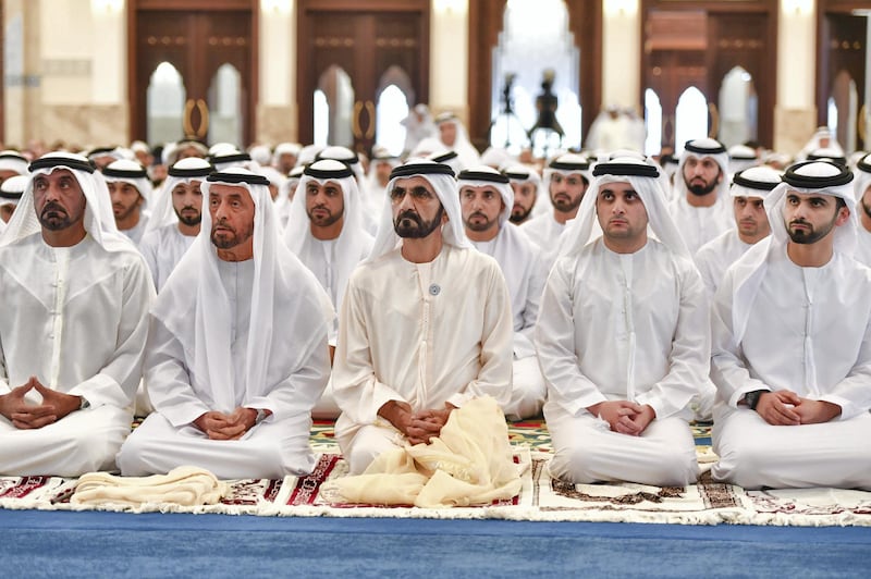
{"label": "central front-row man in cream robe with round chest badge", "polygon": [[413,160],[393,170],[388,190],[339,320],[335,435],[353,473],[438,436],[467,401],[504,406],[511,396],[511,297],[499,263],[463,233],[453,171]]}

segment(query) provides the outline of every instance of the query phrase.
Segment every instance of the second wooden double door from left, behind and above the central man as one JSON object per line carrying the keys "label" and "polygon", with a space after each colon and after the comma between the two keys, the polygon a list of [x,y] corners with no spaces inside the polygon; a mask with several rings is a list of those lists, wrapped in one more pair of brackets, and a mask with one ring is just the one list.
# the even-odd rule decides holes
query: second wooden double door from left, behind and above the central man
{"label": "second wooden double door from left, behind and above the central man", "polygon": [[346,4],[298,4],[299,139],[315,140],[315,94],[321,90],[332,106],[329,144],[368,153],[378,141],[376,109],[384,88],[397,86],[409,108],[428,99],[429,9],[421,1]]}

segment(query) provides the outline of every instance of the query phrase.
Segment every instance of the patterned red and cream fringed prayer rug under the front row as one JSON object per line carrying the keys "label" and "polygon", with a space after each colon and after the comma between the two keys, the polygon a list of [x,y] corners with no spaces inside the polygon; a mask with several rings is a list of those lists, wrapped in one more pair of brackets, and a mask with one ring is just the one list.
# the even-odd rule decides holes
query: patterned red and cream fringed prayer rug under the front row
{"label": "patterned red and cream fringed prayer rug under the front row", "polygon": [[[229,481],[218,505],[181,507],[145,504],[137,508],[105,504],[99,510],[132,513],[222,513],[303,517],[394,517],[436,519],[505,519],[540,521],[614,521],[683,525],[871,526],[871,493],[834,489],[744,491],[702,475],[698,484],[648,486],[631,483],[572,484],[548,472],[551,455],[518,448],[515,463],[523,488],[511,501],[479,507],[427,509],[331,502],[321,492],[332,479],[347,475],[345,460],[321,453],[314,472],[283,480]],[[58,477],[0,478],[0,507],[85,510],[70,503],[75,480]]]}

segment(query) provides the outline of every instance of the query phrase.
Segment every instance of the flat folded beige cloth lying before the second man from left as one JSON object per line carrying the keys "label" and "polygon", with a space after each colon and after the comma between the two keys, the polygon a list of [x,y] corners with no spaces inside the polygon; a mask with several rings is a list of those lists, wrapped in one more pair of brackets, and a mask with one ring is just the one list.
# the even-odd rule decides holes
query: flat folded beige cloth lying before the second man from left
{"label": "flat folded beige cloth lying before the second man from left", "polygon": [[144,503],[213,505],[226,491],[226,483],[219,481],[214,475],[189,466],[150,477],[115,477],[107,472],[88,472],[78,479],[70,502],[74,505],[111,503],[132,507]]}

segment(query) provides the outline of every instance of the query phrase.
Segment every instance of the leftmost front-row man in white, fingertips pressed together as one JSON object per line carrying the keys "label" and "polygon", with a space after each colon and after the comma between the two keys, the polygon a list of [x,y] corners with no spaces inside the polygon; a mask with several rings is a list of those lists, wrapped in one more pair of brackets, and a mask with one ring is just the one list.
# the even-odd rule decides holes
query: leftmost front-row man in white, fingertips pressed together
{"label": "leftmost front-row man in white, fingertips pressed together", "polygon": [[154,287],[87,159],[49,153],[0,237],[0,475],[114,469]]}

